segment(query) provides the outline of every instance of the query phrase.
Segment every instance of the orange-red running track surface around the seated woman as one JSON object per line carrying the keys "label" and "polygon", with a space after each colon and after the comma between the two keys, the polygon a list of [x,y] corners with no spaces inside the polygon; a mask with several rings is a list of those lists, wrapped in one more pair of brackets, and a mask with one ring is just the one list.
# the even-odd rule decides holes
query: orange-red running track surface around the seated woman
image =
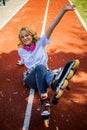
{"label": "orange-red running track surface around the seated woman", "polygon": [[[18,31],[32,26],[41,34],[47,0],[29,0],[0,31],[0,130],[21,130],[23,127],[29,89],[22,84],[25,67],[16,65]],[[67,0],[50,0],[46,28]],[[51,69],[78,58],[78,72],[70,82],[59,103],[51,106],[50,126],[45,128],[37,112],[39,95],[35,92],[29,130],[86,130],[87,129],[87,33],[75,12],[67,12],[51,36],[47,46]],[[52,97],[53,92],[49,90]]]}

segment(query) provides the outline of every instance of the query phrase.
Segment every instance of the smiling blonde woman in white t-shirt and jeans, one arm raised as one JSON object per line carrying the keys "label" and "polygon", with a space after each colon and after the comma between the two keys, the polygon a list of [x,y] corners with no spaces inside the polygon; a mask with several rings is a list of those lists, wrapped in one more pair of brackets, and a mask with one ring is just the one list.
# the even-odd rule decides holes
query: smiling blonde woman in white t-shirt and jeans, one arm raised
{"label": "smiling blonde woman in white t-shirt and jeans, one arm raised", "polygon": [[61,85],[59,86],[60,80],[58,79],[60,73],[62,73],[61,68],[58,69],[57,74],[48,69],[48,56],[45,46],[50,43],[49,38],[65,12],[74,10],[74,8],[74,5],[64,6],[59,15],[53,20],[41,37],[28,27],[22,27],[19,33],[20,43],[18,45],[18,53],[21,60],[19,60],[17,64],[24,64],[28,68],[27,76],[24,78],[25,84],[30,88],[38,88],[41,96],[41,104],[46,106],[41,112],[41,116],[43,117],[45,115],[50,115],[50,112],[47,110],[47,107],[50,107],[47,86],[50,86],[55,91],[57,90],[58,94],[61,88]]}

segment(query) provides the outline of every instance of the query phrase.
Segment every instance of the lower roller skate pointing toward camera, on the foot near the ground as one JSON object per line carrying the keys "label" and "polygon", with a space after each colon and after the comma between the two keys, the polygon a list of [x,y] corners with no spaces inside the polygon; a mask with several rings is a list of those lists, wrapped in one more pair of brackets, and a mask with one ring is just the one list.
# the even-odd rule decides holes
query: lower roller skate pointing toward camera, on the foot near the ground
{"label": "lower roller skate pointing toward camera, on the foot near the ground", "polygon": [[45,127],[49,127],[49,119],[50,119],[50,99],[42,97],[40,99],[41,106],[37,109],[41,111],[41,117],[44,120]]}

